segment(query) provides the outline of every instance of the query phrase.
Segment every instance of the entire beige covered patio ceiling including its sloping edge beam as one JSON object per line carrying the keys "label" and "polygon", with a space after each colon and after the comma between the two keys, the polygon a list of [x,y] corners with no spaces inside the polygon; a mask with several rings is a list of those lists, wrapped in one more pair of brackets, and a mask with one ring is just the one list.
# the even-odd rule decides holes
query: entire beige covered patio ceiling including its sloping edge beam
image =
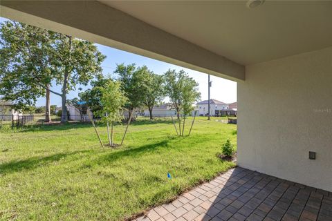
{"label": "entire beige covered patio ceiling including its sloping edge beam", "polygon": [[0,1],[2,17],[242,81],[245,66],[332,46],[332,1]]}

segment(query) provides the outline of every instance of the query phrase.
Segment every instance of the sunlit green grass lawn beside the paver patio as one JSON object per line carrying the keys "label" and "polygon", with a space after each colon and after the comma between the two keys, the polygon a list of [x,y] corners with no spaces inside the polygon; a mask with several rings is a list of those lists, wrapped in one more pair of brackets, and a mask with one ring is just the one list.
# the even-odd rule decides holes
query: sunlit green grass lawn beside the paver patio
{"label": "sunlit green grass lawn beside the paver patio", "polygon": [[[236,146],[236,125],[216,119],[196,117],[190,137],[167,119],[138,120],[117,149],[101,148],[91,124],[3,128],[0,220],[124,220],[172,200],[234,166],[216,154],[227,138]],[[114,130],[120,143],[124,126]]]}

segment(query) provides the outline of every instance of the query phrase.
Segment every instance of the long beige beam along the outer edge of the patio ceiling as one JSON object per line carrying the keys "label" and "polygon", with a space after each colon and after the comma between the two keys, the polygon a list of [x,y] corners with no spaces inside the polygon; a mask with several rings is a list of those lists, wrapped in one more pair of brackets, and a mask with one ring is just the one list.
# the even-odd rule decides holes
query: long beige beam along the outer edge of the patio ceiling
{"label": "long beige beam along the outer edge of the patio ceiling", "polygon": [[1,17],[234,81],[245,68],[98,1],[0,1]]}

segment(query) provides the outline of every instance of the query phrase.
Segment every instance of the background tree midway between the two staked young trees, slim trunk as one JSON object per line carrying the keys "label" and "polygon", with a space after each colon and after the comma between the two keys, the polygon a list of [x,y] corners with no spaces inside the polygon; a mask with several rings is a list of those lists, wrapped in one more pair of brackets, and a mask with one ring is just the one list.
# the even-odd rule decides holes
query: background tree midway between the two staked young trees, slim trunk
{"label": "background tree midway between the two staked young trees, slim trunk", "polygon": [[147,69],[146,66],[143,66],[142,75],[144,75],[145,84],[144,84],[144,99],[143,104],[149,109],[150,119],[152,119],[152,111],[156,104],[163,101],[165,98],[164,90],[164,78],[162,75],[156,75]]}

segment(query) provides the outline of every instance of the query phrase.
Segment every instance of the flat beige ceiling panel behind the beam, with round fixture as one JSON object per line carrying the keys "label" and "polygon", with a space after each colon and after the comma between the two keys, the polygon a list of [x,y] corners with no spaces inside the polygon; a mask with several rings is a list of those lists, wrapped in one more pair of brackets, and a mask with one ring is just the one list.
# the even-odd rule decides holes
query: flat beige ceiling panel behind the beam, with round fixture
{"label": "flat beige ceiling panel behind the beam, with round fixture", "polygon": [[101,2],[243,65],[332,46],[332,1]]}

